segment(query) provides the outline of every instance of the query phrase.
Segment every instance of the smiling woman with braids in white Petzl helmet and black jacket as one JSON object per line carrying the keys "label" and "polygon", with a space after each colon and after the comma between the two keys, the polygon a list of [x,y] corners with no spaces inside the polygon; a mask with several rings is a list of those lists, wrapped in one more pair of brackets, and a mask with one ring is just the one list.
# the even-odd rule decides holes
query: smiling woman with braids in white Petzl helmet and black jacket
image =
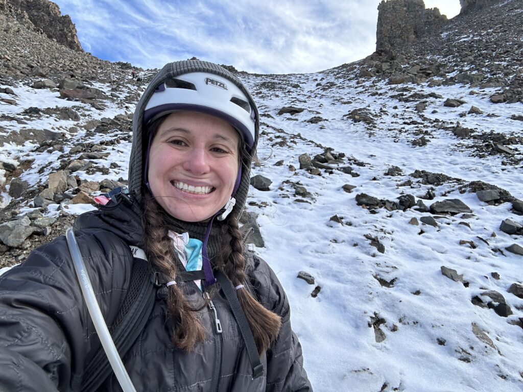
{"label": "smiling woman with braids in white Petzl helmet and black jacket", "polygon": [[[258,130],[255,103],[230,72],[165,65],[134,113],[129,193],[98,198],[105,205],[75,222],[107,325],[137,291],[138,253],[159,286],[122,358],[138,391],[312,390],[285,292],[238,230]],[[224,295],[231,284],[241,317]],[[3,274],[0,291],[0,390],[82,390],[100,343],[64,237]],[[114,374],[98,378],[91,390],[121,390]]]}

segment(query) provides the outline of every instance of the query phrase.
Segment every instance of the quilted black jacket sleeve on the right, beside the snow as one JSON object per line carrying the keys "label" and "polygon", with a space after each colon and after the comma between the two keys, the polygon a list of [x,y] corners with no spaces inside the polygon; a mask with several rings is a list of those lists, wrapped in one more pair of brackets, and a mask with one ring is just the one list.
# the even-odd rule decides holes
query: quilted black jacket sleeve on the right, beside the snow
{"label": "quilted black jacket sleeve on the right, beside the snow", "polygon": [[282,321],[278,338],[267,352],[267,391],[312,392],[303,368],[301,345],[291,328],[289,301],[281,283],[268,264],[257,256],[254,256],[252,273],[260,283],[254,287],[259,289],[256,290],[259,301],[279,314]]}

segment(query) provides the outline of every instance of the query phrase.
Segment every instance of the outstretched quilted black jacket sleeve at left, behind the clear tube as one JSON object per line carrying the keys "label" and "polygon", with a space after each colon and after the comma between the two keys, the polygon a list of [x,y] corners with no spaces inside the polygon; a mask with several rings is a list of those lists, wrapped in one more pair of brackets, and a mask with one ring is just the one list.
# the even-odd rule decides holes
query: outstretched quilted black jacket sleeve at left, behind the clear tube
{"label": "outstretched quilted black jacket sleeve at left, behind the clear tube", "polygon": [[[122,299],[124,277],[112,273],[119,258],[114,250],[101,256],[96,236],[81,234],[78,243],[110,319],[108,309]],[[97,344],[64,237],[0,276],[0,391],[78,390],[85,357]]]}

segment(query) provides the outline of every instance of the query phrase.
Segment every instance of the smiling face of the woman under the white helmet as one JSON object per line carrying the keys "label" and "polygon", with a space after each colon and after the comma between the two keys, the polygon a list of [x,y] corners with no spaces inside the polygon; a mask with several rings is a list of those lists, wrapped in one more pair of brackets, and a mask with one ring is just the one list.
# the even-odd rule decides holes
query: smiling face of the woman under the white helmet
{"label": "smiling face of the woman under the white helmet", "polygon": [[238,174],[236,130],[199,112],[169,114],[149,151],[149,187],[171,216],[205,221],[231,197]]}

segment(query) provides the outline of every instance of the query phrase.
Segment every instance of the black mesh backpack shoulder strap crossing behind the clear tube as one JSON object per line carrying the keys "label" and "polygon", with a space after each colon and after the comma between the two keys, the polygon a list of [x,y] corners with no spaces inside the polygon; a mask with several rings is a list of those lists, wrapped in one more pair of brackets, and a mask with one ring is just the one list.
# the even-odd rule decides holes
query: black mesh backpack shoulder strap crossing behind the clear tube
{"label": "black mesh backpack shoulder strap crossing behind the clear tube", "polygon": [[[131,282],[120,312],[109,328],[120,358],[129,351],[138,338],[152,312],[156,287],[147,263],[145,252],[137,247],[130,247],[134,257]],[[107,355],[98,347],[88,362],[82,379],[82,392],[94,391],[104,383],[112,368]]]}

